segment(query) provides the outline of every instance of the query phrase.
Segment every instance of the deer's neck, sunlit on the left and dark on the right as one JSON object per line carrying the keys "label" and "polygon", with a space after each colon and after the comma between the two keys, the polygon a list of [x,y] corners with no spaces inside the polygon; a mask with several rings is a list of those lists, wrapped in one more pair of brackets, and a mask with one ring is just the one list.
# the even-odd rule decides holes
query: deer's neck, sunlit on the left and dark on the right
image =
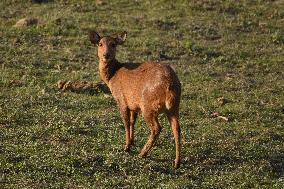
{"label": "deer's neck, sunlit on the left and dark on the right", "polygon": [[121,63],[119,63],[116,59],[111,62],[99,62],[99,72],[101,79],[109,85],[110,79],[114,76],[115,72],[121,67]]}

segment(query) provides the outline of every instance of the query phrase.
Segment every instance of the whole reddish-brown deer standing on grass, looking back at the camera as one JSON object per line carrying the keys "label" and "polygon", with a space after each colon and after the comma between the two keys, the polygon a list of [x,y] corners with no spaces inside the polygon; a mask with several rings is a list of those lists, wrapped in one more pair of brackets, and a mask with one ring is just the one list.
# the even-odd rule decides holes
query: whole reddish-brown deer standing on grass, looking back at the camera
{"label": "whole reddish-brown deer standing on grass, looking back at the camera", "polygon": [[96,32],[89,34],[91,42],[98,46],[100,77],[110,88],[125,125],[124,150],[129,151],[130,145],[134,142],[134,124],[137,114],[141,112],[151,130],[149,139],[139,154],[140,157],[145,157],[161,130],[158,115],[165,113],[175,138],[175,168],[178,168],[181,84],[169,65],[156,62],[142,64],[118,62],[115,58],[116,46],[123,44],[126,35],[126,32],[106,37],[100,37]]}

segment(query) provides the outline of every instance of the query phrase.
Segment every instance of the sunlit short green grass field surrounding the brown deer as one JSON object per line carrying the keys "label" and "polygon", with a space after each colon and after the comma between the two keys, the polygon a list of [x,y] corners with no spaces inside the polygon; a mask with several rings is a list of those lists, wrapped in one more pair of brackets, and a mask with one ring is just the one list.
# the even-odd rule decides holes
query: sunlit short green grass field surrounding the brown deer
{"label": "sunlit short green grass field surrounding the brown deer", "polygon": [[[0,8],[0,188],[284,188],[282,0],[4,0]],[[26,16],[38,24],[13,27]],[[121,62],[175,68],[180,169],[165,117],[141,159],[149,134],[141,116],[128,154],[112,97],[57,89],[60,79],[100,80],[90,30],[128,32]]]}

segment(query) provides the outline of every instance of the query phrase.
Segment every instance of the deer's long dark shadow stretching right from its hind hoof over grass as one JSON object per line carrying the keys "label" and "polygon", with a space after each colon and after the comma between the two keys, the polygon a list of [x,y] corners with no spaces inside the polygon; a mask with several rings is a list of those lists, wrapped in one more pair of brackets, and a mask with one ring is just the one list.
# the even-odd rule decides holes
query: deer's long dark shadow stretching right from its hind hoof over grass
{"label": "deer's long dark shadow stretching right from its hind hoof over grass", "polygon": [[[229,153],[229,152],[228,152]],[[187,171],[192,169],[200,170],[199,175],[202,177],[203,173],[208,171],[229,171],[234,172],[239,169],[247,169],[247,171],[258,171],[259,175],[270,172],[272,178],[281,178],[284,174],[284,152],[275,153],[271,155],[257,156],[250,154],[250,152],[239,151],[241,156],[230,154],[208,154],[201,157],[186,158],[181,168]],[[160,160],[159,160],[160,161]]]}

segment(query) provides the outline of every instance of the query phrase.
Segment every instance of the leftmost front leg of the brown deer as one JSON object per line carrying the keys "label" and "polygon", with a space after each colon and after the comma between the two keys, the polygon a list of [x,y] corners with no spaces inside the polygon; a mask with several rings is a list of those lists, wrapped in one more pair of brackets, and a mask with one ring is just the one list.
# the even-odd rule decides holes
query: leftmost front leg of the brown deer
{"label": "leftmost front leg of the brown deer", "polygon": [[128,152],[130,148],[130,111],[127,107],[120,107],[120,115],[125,127],[125,146],[124,151]]}

